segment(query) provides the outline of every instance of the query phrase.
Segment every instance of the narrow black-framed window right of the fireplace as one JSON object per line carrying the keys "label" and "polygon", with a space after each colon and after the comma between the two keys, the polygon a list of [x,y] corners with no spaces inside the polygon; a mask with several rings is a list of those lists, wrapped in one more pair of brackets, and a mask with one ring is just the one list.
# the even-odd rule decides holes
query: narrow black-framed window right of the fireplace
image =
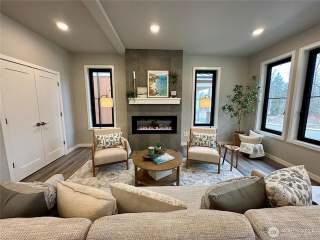
{"label": "narrow black-framed window right of the fireplace", "polygon": [[213,126],[216,70],[195,70],[193,126]]}

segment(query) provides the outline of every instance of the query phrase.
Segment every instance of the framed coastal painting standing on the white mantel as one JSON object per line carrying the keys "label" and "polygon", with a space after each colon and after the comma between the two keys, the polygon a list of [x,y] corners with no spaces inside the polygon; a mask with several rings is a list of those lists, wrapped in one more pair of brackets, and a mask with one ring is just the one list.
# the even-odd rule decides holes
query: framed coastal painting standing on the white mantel
{"label": "framed coastal painting standing on the white mantel", "polygon": [[147,71],[147,96],[148,97],[168,97],[169,71]]}

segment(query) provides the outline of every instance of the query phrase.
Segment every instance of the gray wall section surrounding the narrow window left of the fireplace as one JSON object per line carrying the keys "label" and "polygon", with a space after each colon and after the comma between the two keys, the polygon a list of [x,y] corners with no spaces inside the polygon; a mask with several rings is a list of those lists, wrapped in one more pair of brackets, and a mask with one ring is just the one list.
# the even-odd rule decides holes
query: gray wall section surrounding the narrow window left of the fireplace
{"label": "gray wall section surrounding the narrow window left of the fireplace", "polygon": [[85,98],[85,78],[83,65],[114,65],[116,126],[121,127],[127,137],[125,64],[124,57],[111,54],[73,54],[72,78],[74,87],[77,143],[91,144],[92,130],[88,130],[87,105]]}

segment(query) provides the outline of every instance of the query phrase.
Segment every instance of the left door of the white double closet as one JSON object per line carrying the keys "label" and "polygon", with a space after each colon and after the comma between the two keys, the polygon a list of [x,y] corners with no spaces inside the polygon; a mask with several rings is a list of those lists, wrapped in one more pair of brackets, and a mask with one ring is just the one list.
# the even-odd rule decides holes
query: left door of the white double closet
{"label": "left door of the white double closet", "polygon": [[45,165],[33,68],[1,60],[0,85],[1,118],[7,122],[1,126],[8,132],[4,144],[15,180],[21,180]]}

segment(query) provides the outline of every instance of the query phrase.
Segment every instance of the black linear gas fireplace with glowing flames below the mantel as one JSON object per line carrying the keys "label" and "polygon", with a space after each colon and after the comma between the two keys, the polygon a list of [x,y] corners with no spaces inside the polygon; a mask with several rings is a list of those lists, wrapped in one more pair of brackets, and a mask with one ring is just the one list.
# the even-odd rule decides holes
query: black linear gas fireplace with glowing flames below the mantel
{"label": "black linear gas fireplace with glowing flames below the mantel", "polygon": [[132,134],[176,133],[176,116],[131,116]]}

